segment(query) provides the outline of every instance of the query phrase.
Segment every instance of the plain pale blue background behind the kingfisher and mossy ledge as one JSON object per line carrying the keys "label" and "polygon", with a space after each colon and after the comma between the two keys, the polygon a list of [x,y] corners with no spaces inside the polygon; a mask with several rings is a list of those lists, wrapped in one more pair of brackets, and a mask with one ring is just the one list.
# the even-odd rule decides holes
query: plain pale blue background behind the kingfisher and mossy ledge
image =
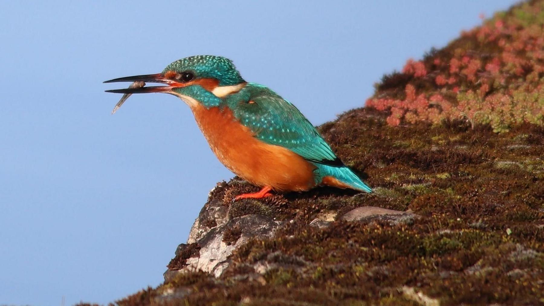
{"label": "plain pale blue background behind the kingfisher and mossy ledge", "polygon": [[233,176],[181,100],[134,95],[110,115],[120,95],[103,91],[126,84],[102,81],[226,56],[319,125],[513,3],[0,2],[0,304],[158,285],[208,191]]}

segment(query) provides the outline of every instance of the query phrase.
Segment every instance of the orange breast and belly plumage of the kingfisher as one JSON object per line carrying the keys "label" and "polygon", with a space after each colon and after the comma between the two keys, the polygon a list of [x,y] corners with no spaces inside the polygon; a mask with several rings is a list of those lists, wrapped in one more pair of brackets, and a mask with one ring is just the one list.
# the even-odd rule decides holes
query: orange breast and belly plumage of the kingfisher
{"label": "orange breast and belly plumage of the kingfisher", "polygon": [[230,109],[199,105],[192,111],[219,161],[240,178],[277,191],[306,191],[315,185],[313,164],[282,146],[255,138]]}

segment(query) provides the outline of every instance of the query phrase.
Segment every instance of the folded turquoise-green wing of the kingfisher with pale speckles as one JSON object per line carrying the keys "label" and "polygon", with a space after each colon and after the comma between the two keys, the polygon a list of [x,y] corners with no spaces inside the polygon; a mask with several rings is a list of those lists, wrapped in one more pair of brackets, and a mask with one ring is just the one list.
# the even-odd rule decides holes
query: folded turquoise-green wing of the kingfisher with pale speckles
{"label": "folded turquoise-green wing of the kingfisher with pale speckles", "polygon": [[255,137],[268,144],[283,146],[310,162],[343,166],[298,108],[261,85],[248,84],[246,87],[249,90],[228,104]]}

